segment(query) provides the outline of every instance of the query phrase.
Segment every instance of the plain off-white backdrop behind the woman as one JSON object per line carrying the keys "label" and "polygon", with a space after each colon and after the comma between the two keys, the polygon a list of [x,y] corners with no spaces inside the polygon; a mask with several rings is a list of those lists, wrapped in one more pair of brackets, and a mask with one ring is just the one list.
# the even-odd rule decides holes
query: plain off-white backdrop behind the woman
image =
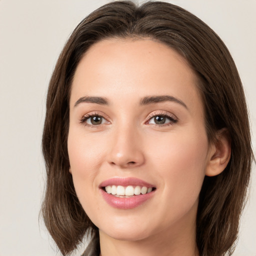
{"label": "plain off-white backdrop behind the woman", "polygon": [[[60,255],[38,217],[44,190],[40,146],[47,84],[71,31],[107,2],[0,0],[0,256]],[[169,2],[201,18],[229,48],[256,134],[256,0]],[[255,135],[252,141],[255,151]],[[235,256],[256,255],[255,166],[252,172]]]}

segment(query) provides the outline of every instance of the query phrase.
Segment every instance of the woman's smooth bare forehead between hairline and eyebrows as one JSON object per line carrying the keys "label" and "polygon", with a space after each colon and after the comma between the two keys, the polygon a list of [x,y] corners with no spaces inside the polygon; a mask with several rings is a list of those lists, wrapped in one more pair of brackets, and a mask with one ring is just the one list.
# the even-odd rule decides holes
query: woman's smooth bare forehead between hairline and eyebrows
{"label": "woman's smooth bare forehead between hairline and eyebrows", "polygon": [[93,44],[81,58],[70,104],[85,95],[104,96],[111,101],[116,97],[171,94],[188,105],[197,102],[201,108],[196,81],[187,61],[163,43],[104,39]]}

